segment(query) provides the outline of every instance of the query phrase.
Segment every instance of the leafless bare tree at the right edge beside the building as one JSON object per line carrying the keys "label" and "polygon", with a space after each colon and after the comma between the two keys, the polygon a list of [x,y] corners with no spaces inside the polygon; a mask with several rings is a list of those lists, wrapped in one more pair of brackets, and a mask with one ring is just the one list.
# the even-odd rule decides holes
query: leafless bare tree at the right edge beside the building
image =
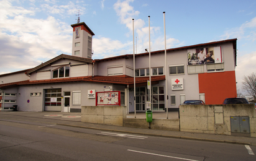
{"label": "leafless bare tree at the right edge beside the building", "polygon": [[244,76],[243,81],[242,89],[256,101],[256,74],[253,72],[249,76]]}

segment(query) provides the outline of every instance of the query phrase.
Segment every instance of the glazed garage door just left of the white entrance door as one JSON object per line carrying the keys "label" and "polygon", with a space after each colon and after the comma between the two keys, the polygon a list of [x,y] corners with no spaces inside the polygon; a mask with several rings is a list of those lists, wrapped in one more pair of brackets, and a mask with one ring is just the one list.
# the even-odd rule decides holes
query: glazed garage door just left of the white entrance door
{"label": "glazed garage door just left of the white entrance door", "polygon": [[62,111],[62,89],[45,89],[45,111]]}

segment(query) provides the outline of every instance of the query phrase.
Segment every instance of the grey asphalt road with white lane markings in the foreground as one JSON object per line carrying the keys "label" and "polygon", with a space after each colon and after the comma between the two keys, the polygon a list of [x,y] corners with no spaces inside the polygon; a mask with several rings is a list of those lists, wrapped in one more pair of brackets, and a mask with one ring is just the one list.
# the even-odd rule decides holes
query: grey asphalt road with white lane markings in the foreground
{"label": "grey asphalt road with white lane markings in the foreground", "polygon": [[[248,150],[249,148],[249,150]],[[0,160],[256,160],[255,146],[0,121]]]}

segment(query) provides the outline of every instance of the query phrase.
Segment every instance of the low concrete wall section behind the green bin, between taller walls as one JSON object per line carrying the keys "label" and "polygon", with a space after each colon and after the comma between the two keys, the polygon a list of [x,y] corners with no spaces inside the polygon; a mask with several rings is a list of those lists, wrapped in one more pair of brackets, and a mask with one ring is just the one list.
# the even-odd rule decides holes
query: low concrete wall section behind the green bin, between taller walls
{"label": "low concrete wall section behind the green bin, between taller walls", "polygon": [[[145,118],[124,118],[124,126],[130,128],[149,129],[149,123]],[[150,129],[180,131],[178,119],[153,119]]]}

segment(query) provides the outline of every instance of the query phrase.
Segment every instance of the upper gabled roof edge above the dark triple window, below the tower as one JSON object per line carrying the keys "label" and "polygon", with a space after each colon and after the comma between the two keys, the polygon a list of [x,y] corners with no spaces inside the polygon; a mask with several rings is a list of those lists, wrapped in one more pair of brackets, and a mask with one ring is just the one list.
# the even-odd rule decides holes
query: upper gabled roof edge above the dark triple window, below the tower
{"label": "upper gabled roof edge above the dark triple window, below the tower", "polygon": [[25,72],[25,74],[31,74],[32,72],[34,71],[37,71],[38,69],[44,67],[44,66],[48,66],[49,64],[59,60],[59,59],[71,59],[71,60],[76,60],[76,61],[81,61],[81,62],[84,62],[84,63],[92,63],[93,60],[92,59],[88,59],[88,58],[81,58],[81,57],[78,57],[78,56],[71,56],[71,55],[68,55],[68,54],[60,54],[59,56],[53,58],[53,59],[50,59],[49,61],[43,63],[43,64],[40,64],[39,66],[36,66],[32,69],[30,69],[29,71]]}

